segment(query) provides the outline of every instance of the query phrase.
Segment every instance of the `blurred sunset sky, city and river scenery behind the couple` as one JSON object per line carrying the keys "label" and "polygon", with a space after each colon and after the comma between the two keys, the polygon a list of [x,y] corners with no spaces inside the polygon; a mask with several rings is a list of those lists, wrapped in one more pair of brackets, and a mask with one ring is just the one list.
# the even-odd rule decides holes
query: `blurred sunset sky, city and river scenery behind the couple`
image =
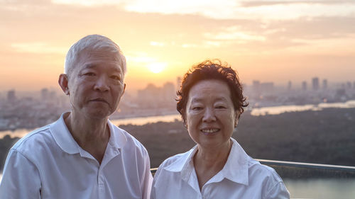
{"label": "blurred sunset sky, city and river scenery behind the couple", "polygon": [[[215,58],[244,84],[249,107],[234,137],[251,157],[355,166],[354,24],[351,0],[0,0],[0,171],[18,138],[70,109],[58,76],[89,34],[126,56],[111,120],[146,146],[152,167],[194,145],[175,93],[187,69]],[[354,178],[285,183],[292,198],[355,195]]]}

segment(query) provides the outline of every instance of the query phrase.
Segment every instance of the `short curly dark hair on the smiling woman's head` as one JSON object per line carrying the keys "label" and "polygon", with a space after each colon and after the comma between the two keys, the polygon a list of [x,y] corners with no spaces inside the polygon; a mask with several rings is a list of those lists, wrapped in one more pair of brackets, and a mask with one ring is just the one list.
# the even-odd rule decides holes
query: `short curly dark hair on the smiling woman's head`
{"label": "short curly dark hair on the smiling woman's head", "polygon": [[246,97],[243,96],[243,87],[239,82],[238,74],[232,69],[229,64],[222,62],[219,59],[205,60],[200,64],[193,66],[184,75],[178,94],[176,109],[182,115],[182,120],[185,122],[185,108],[187,98],[192,86],[197,82],[207,79],[217,79],[226,82],[231,91],[231,101],[234,105],[234,110],[238,111],[239,115],[244,112],[244,107],[248,106]]}

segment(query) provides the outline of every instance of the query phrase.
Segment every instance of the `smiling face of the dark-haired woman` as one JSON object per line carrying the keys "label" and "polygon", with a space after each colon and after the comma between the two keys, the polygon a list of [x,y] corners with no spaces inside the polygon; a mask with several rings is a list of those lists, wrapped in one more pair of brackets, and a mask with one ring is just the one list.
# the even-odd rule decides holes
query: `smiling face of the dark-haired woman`
{"label": "smiling face of the dark-haired woman", "polygon": [[218,148],[229,144],[238,113],[231,91],[224,81],[202,80],[191,87],[185,110],[185,124],[199,147]]}

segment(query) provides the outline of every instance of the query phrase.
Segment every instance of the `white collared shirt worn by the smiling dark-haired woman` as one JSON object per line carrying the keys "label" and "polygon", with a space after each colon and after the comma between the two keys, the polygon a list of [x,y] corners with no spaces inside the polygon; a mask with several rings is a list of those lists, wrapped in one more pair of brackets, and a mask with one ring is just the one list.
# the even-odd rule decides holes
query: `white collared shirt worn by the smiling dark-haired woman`
{"label": "white collared shirt worn by the smiling dark-haired woman", "polygon": [[231,152],[223,169],[204,184],[197,181],[193,157],[197,146],[166,159],[153,180],[151,199],[268,199],[290,198],[285,184],[274,169],[249,157],[231,138]]}

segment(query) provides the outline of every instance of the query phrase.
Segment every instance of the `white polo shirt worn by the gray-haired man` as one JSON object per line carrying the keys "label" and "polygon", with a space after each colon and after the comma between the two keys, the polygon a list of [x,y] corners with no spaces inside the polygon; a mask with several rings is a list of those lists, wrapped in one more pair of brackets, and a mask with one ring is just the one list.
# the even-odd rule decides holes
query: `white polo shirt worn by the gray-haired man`
{"label": "white polo shirt worn by the gray-haired man", "polygon": [[63,115],[19,140],[10,150],[0,198],[149,198],[148,152],[108,121],[111,136],[102,164],[73,139]]}

